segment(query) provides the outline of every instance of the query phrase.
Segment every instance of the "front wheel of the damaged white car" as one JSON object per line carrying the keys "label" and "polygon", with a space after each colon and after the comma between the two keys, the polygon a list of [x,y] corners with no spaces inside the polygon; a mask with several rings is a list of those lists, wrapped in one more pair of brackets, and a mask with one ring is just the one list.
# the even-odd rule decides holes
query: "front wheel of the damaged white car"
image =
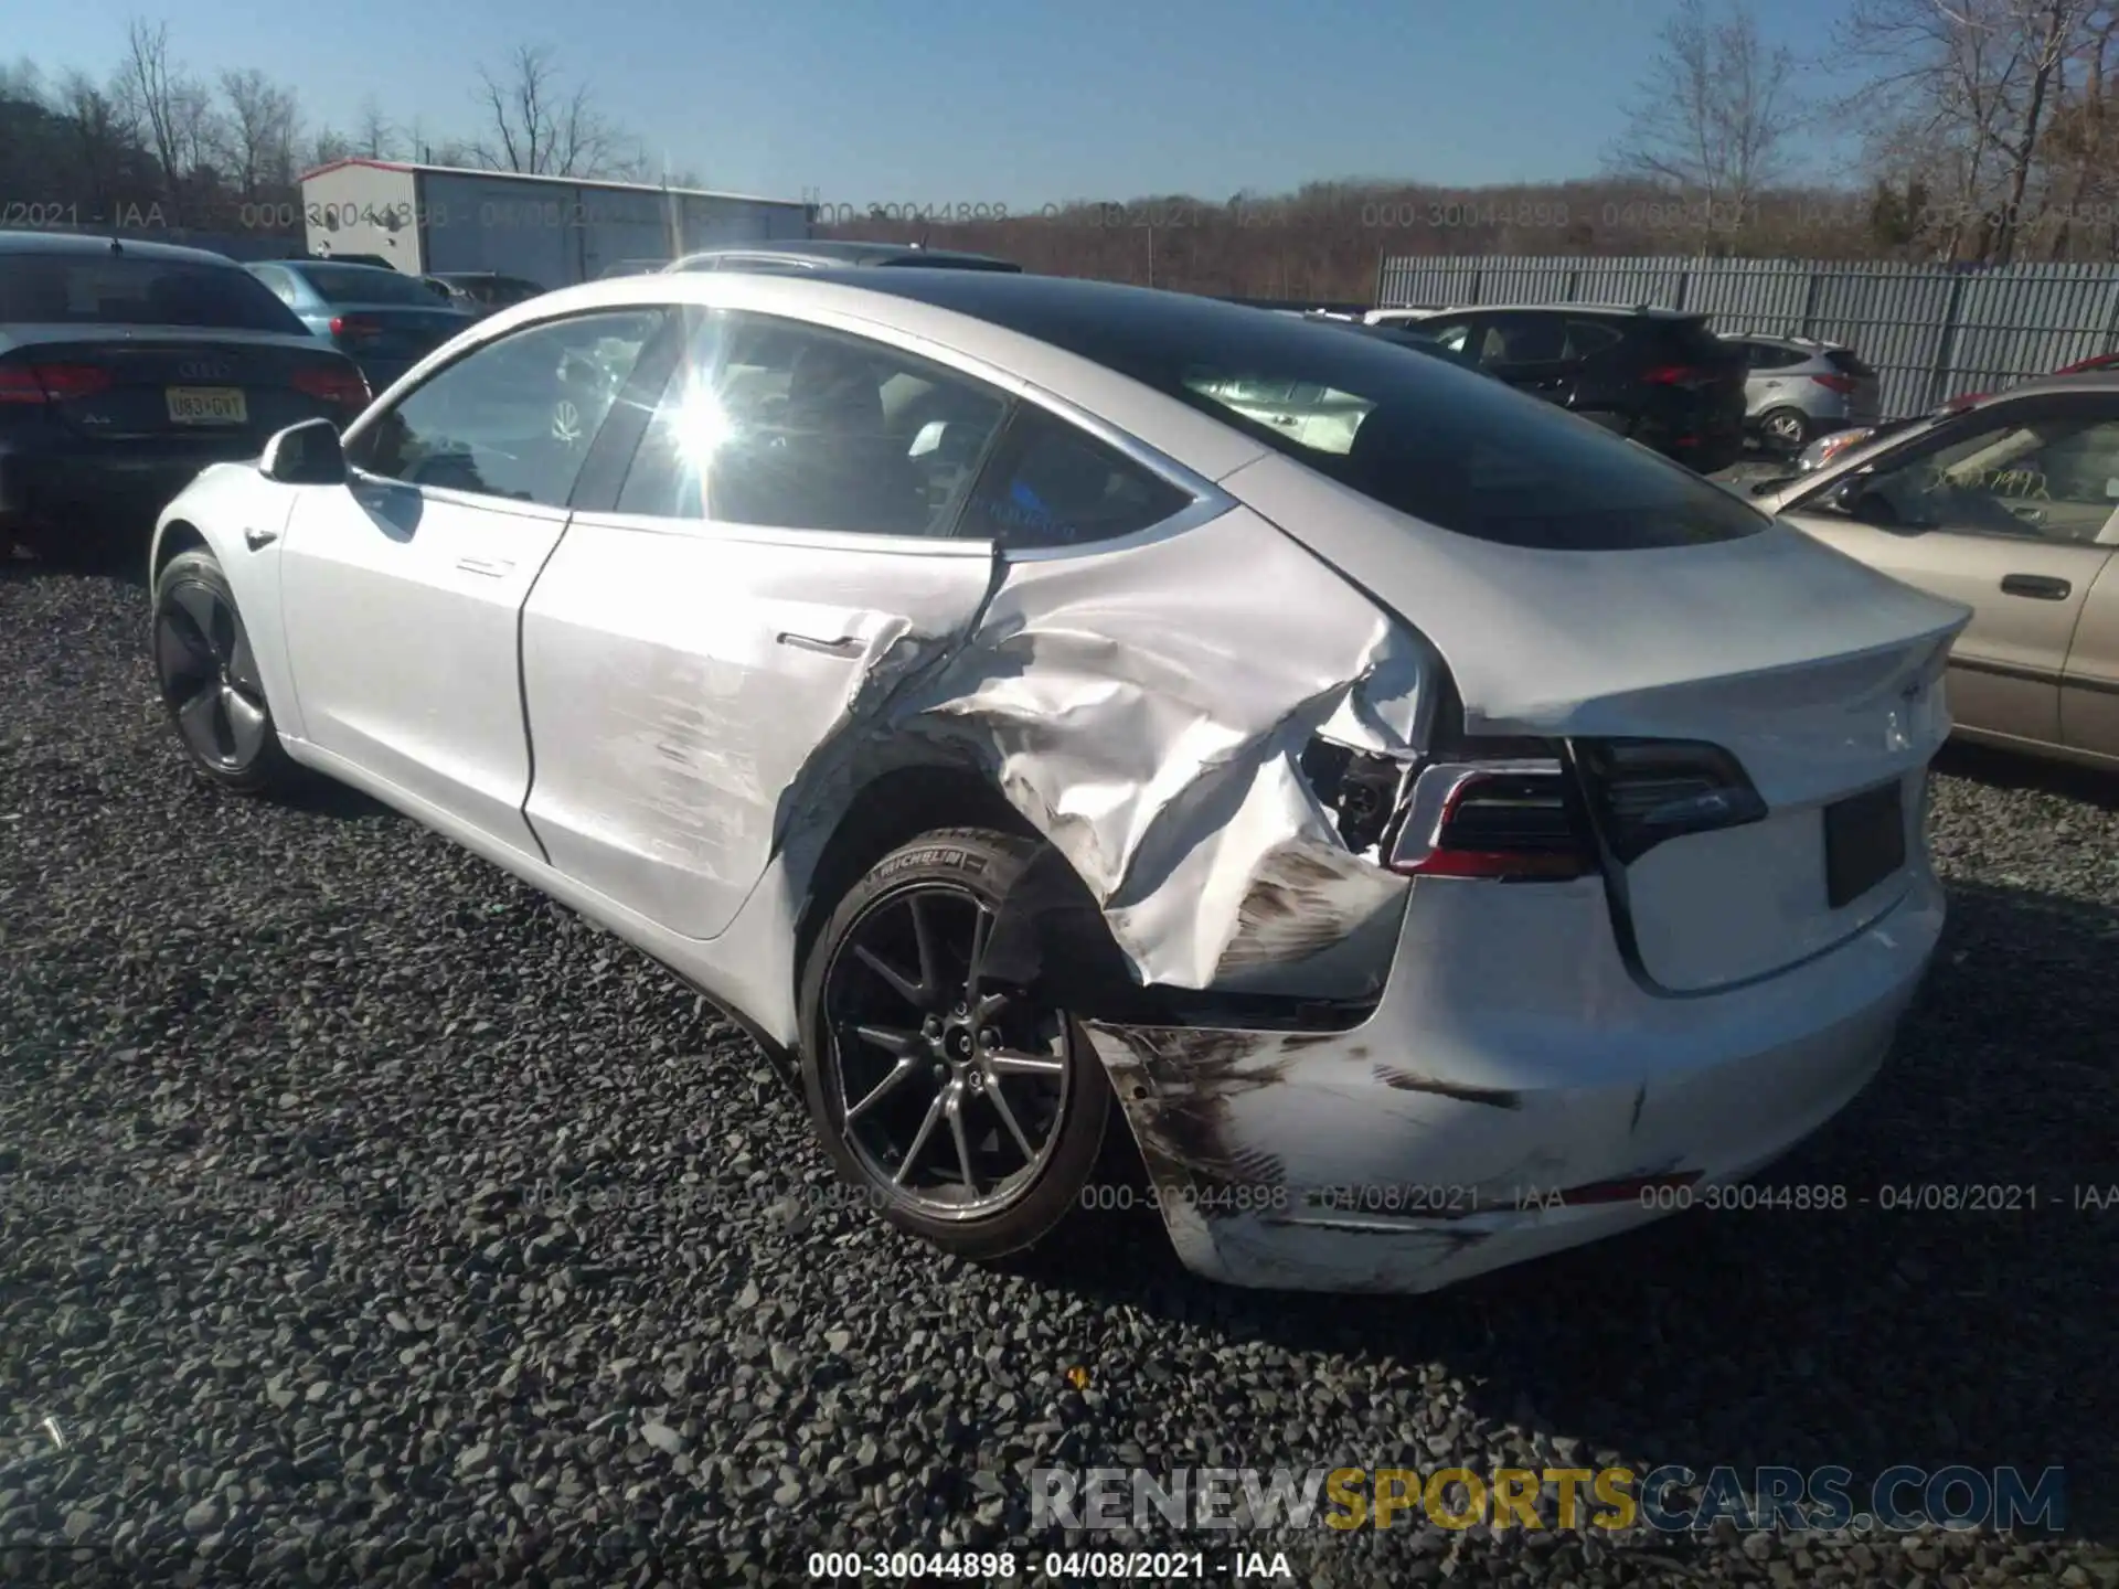
{"label": "front wheel of the damaged white car", "polygon": [[155,581],[155,682],[191,765],[237,794],[282,788],[280,746],[235,593],[210,551],[170,559]]}

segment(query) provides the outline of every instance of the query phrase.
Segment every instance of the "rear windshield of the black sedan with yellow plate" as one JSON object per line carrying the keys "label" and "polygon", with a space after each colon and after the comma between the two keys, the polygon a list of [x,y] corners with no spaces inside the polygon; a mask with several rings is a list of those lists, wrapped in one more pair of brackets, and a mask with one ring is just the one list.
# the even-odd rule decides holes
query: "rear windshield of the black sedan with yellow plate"
{"label": "rear windshield of the black sedan with yellow plate", "polygon": [[303,333],[237,265],[123,254],[0,254],[0,322]]}

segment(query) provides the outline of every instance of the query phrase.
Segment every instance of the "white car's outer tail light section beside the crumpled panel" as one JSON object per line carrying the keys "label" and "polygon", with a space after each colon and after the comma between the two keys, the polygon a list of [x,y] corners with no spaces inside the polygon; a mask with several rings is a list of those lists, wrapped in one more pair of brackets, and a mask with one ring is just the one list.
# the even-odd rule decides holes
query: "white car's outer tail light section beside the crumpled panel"
{"label": "white car's outer tail light section beside the crumpled panel", "polygon": [[1564,881],[1593,867],[1557,761],[1428,767],[1390,869],[1407,877]]}

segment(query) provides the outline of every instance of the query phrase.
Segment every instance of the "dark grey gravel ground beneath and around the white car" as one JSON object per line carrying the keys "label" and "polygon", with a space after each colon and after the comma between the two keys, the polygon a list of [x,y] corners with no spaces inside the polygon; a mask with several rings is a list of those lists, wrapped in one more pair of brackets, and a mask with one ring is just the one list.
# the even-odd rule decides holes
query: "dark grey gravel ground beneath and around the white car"
{"label": "dark grey gravel ground beneath and around the white car", "polygon": [[2070,1197],[2119,1184],[2111,782],[1952,765],[1930,987],[1771,1176],[2034,1212],[1689,1214],[1288,1299],[1136,1218],[977,1269],[841,1210],[759,1051],[610,936],[356,797],[195,786],[142,612],[0,570],[0,1583],[788,1583],[1060,1545],[1034,1462],[1441,1458],[2064,1464],[2068,1532],[1214,1536],[1208,1576],[2119,1583],[2119,1208]]}

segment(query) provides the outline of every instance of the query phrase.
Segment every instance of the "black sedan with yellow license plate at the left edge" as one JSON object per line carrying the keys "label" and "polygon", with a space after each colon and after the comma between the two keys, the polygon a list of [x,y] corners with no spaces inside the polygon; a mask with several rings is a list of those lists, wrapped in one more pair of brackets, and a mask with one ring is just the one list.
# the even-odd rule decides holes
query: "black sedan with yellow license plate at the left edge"
{"label": "black sedan with yellow license plate at the left edge", "polygon": [[369,388],[235,261],[0,231],[0,547],[102,559],[208,464]]}

